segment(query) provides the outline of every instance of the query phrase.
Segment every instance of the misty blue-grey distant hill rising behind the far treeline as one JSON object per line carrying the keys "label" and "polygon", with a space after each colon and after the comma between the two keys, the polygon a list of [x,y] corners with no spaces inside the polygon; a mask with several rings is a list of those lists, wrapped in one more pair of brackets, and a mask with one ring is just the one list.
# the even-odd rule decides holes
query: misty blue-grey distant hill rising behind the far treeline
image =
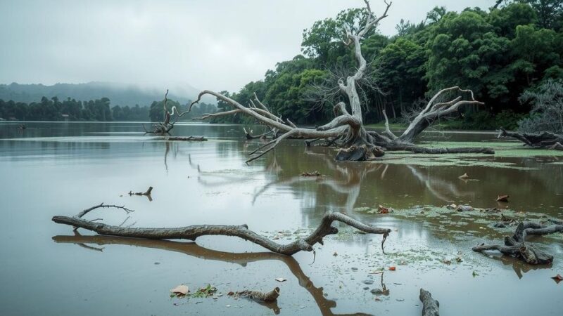
{"label": "misty blue-grey distant hill rising behind the far treeline", "polygon": [[[182,88],[170,87],[168,98],[177,100],[181,104],[193,100],[199,91],[191,86]],[[111,105],[148,106],[155,100],[163,100],[165,88],[141,88],[129,84],[113,84],[108,82],[88,82],[86,84],[0,84],[0,99],[16,102],[39,102],[43,96],[57,97],[59,100],[73,98],[75,100],[94,100],[109,98]],[[206,103],[215,104],[215,100],[206,98]]]}

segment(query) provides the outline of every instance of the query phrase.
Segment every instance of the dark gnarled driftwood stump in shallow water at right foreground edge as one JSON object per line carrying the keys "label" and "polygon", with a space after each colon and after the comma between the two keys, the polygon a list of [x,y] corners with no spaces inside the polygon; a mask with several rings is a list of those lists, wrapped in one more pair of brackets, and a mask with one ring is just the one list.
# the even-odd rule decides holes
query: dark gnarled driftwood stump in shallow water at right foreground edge
{"label": "dark gnarled driftwood stump in shallow water at right foreground edge", "polygon": [[483,252],[496,250],[501,254],[514,256],[531,265],[545,265],[553,261],[553,256],[537,249],[536,246],[526,242],[527,235],[548,235],[554,232],[563,232],[563,223],[554,221],[552,225],[542,225],[532,222],[518,224],[512,237],[505,237],[505,244],[480,244],[473,247],[473,251]]}

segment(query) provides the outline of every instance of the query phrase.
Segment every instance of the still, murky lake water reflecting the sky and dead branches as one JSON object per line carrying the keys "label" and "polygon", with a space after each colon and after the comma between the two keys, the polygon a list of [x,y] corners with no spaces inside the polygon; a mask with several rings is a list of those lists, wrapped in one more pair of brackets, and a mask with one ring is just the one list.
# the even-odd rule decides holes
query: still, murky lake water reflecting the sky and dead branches
{"label": "still, murky lake water reflecting the sky and dead branches", "polygon": [[[138,123],[16,126],[0,124],[0,315],[420,315],[420,287],[440,301],[443,315],[561,315],[563,284],[550,277],[563,275],[562,238],[531,239],[555,256],[552,266],[531,267],[471,251],[503,235],[483,218],[428,215],[454,202],[563,218],[558,153],[521,157],[518,144],[501,143],[510,148],[495,156],[388,154],[381,162],[336,163],[330,149],[307,151],[288,140],[247,166],[246,153],[260,140],[243,140],[241,126],[173,130],[207,142],[152,140]],[[423,140],[498,142],[493,133],[427,133]],[[324,176],[299,176],[315,170]],[[463,173],[471,180],[457,178]],[[149,185],[152,201],[127,195]],[[510,203],[495,202],[502,194]],[[341,233],[317,245],[315,256],[291,258],[234,237],[99,237],[51,222],[101,202],[135,211],[99,209],[89,218],[132,227],[246,223],[290,242],[325,211],[341,211],[393,232],[386,255],[379,236],[339,225]],[[379,204],[396,211],[366,211]],[[403,216],[403,209],[417,211]],[[392,265],[394,272],[370,274]],[[211,284],[220,293],[280,287],[281,295],[276,305],[227,295],[170,298],[178,284]]]}

